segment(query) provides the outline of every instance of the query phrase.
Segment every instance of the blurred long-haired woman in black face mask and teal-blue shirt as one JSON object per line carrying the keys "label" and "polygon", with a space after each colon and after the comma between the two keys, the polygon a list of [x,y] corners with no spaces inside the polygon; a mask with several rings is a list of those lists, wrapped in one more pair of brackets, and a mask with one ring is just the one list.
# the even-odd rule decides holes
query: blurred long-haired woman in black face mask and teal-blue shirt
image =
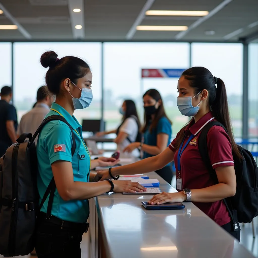
{"label": "blurred long-haired woman in black face mask and teal-blue shirt", "polygon": [[[156,156],[164,151],[171,142],[172,122],[168,119],[160,93],[150,89],[143,95],[144,103],[144,141],[128,145],[124,152],[132,152],[139,148],[143,151],[143,159]],[[171,184],[173,173],[171,163],[156,173]]]}

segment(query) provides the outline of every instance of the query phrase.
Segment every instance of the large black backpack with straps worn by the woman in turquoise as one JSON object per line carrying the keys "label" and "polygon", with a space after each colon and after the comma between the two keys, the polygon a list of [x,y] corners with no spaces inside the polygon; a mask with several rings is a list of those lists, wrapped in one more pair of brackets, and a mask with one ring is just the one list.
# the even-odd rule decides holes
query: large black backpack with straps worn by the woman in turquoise
{"label": "large black backpack with straps worn by the woman in turquoise", "polygon": [[[27,255],[35,247],[36,217],[49,196],[47,216],[51,215],[54,192],[52,178],[38,206],[37,152],[35,138],[44,125],[53,120],[66,123],[72,132],[72,155],[75,139],[72,127],[59,115],[49,116],[41,123],[35,134],[23,133],[0,158],[0,253],[7,256]],[[26,140],[28,138],[29,140]]]}

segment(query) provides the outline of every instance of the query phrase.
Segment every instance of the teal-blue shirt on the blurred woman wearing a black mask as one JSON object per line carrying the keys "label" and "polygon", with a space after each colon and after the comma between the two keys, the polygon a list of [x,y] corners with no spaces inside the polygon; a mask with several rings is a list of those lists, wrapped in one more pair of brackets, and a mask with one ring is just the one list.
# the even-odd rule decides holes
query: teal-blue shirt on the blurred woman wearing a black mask
{"label": "teal-blue shirt on the blurred woman wearing a black mask", "polygon": [[[144,133],[144,143],[150,146],[157,146],[157,135],[159,133],[165,133],[168,135],[167,146],[171,143],[171,135],[172,135],[172,128],[170,121],[166,117],[162,117],[159,119],[157,127],[152,129],[152,132],[149,131],[151,123],[149,124],[146,132]],[[143,159],[152,157],[153,155],[144,151]],[[166,166],[170,166],[170,163]]]}

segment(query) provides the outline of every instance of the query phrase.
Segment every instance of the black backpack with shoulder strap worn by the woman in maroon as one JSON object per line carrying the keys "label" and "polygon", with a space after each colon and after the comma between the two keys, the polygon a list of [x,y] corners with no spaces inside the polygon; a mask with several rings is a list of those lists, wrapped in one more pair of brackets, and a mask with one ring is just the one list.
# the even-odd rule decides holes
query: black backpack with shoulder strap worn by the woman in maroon
{"label": "black backpack with shoulder strap worn by the woman in maroon", "polygon": [[[208,155],[207,134],[209,129],[219,125],[226,128],[218,121],[209,122],[203,127],[200,132],[198,140],[198,148],[208,168],[209,174],[214,183],[218,183],[215,170],[212,168],[211,161]],[[229,211],[230,217],[234,223],[234,230],[240,230],[238,222],[249,223],[254,217],[258,215],[258,168],[257,164],[250,151],[238,146],[239,151],[243,157],[242,161],[239,161],[233,156],[235,164],[235,173],[237,188],[236,194],[233,197],[224,199],[225,205]]]}

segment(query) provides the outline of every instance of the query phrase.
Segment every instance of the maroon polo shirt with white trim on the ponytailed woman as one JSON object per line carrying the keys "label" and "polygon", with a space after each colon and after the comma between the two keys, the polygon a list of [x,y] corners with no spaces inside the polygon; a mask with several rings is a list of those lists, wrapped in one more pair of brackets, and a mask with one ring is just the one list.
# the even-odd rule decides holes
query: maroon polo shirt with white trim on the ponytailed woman
{"label": "maroon polo shirt with white trim on the ponytailed woman", "polygon": [[[191,134],[193,134],[193,138],[181,155],[180,177],[182,178],[182,189],[201,189],[214,185],[198,149],[199,132],[208,122],[213,120],[215,118],[209,112],[196,123],[192,120],[184,131],[186,137],[183,146]],[[173,146],[175,141],[176,138],[171,142],[169,148],[175,151],[174,162],[176,178],[178,178],[178,150]],[[234,166],[230,138],[221,126],[215,125],[211,127],[207,134],[207,144],[209,158],[214,169],[221,166]],[[227,224],[231,220],[222,200],[213,203],[193,203],[220,226]]]}

